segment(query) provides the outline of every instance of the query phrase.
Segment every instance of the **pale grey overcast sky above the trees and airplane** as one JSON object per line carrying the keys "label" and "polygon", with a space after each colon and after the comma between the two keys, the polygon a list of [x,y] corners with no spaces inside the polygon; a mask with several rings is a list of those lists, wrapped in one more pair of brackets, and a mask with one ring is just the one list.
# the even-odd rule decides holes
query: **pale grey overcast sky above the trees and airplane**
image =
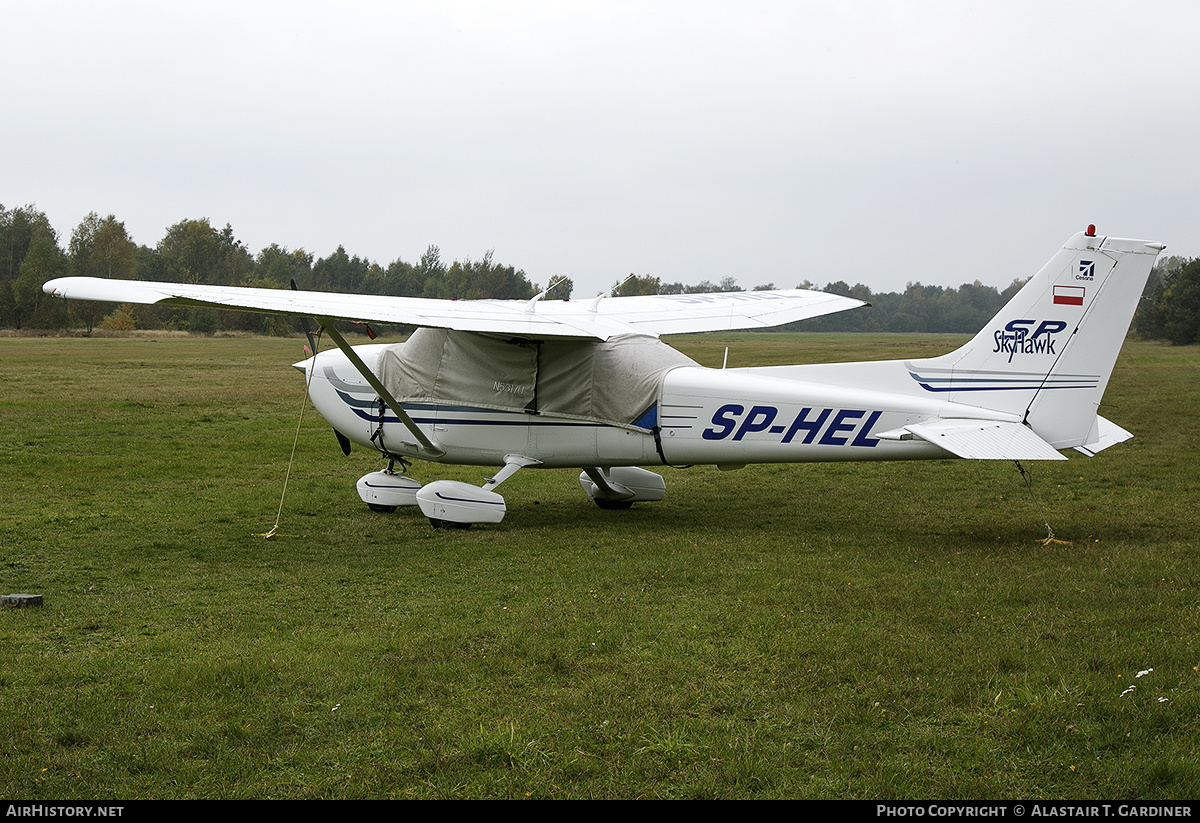
{"label": "pale grey overcast sky above the trees and airplane", "polygon": [[0,0],[0,204],[575,278],[1200,256],[1200,2]]}

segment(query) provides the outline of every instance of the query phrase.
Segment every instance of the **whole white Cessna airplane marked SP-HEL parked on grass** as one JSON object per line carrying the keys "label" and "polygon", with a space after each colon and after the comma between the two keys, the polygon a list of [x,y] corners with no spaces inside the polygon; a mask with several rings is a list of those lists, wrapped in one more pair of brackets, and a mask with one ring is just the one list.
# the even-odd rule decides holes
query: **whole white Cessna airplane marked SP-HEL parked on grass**
{"label": "whole white Cessna airplane marked SP-HEL parked on grass", "polygon": [[[602,509],[661,500],[643,465],[1066,459],[1132,434],[1097,414],[1162,244],[1072,238],[971,342],[919,360],[706,368],[659,335],[761,329],[864,305],[821,292],[450,301],[62,277],[79,300],[311,317],[336,343],[295,364],[308,395],[388,467],[358,482],[374,510],[436,528],[498,523],[522,468],[582,469]],[[349,346],[335,320],[419,326]],[[412,459],[500,467],[481,486],[407,474]]]}

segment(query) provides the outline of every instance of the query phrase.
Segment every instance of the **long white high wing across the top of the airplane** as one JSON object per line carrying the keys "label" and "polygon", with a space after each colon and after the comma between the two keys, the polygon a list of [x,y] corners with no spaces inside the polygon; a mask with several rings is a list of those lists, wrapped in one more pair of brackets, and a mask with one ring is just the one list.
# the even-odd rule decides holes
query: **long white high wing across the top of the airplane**
{"label": "long white high wing across the top of the airplane", "polygon": [[724,292],[592,300],[432,300],[232,286],[60,277],[42,289],[73,300],[202,306],[336,320],[392,323],[515,337],[606,341],[629,334],[767,329],[865,306],[824,292]]}

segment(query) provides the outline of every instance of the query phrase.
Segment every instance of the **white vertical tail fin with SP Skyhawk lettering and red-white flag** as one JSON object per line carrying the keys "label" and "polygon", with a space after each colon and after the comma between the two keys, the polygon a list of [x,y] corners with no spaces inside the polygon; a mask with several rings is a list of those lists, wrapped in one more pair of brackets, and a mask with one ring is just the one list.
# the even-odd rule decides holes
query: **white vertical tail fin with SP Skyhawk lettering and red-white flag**
{"label": "white vertical tail fin with SP Skyhawk lettering and red-white flag", "polygon": [[970,343],[905,365],[952,402],[1021,415],[1056,449],[1086,445],[1163,248],[1076,234]]}

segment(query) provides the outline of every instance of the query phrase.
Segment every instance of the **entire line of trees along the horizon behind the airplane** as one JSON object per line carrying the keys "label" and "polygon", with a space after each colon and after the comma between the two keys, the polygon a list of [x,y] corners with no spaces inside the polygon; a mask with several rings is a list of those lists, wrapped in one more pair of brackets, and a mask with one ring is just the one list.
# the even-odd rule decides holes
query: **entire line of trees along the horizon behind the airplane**
{"label": "entire line of trees along the horizon behind the airplane", "polygon": [[[296,288],[413,298],[529,300],[541,292],[523,270],[493,260],[446,264],[431,245],[415,263],[396,259],[383,266],[350,256],[338,246],[324,258],[271,244],[257,254],[239,241],[232,227],[217,229],[206,218],[184,220],[167,229],[155,246],[133,242],[115,216],[89,214],[65,246],[47,216],[34,205],[0,205],[0,328],[180,329],[199,334],[245,331],[287,335],[299,331],[294,318],[268,314],[176,308],[113,306],[64,301],[42,293],[42,284],[66,275],[124,280],[175,281],[258,288]],[[834,281],[821,290],[848,295],[871,308],[841,312],[784,326],[785,330],[848,332],[974,334],[1016,293],[1022,281],[1003,290],[979,281],[958,288],[910,283],[902,292],[872,292],[863,283]],[[569,277],[552,278],[550,296],[569,299]],[[791,288],[782,284],[781,288]],[[816,289],[805,280],[798,288]],[[774,289],[774,283],[754,287]],[[733,276],[695,284],[662,282],[650,275],[630,275],[613,283],[613,295],[740,292]],[[1171,257],[1159,263],[1134,320],[1139,335],[1192,343],[1200,340],[1200,260]]]}

